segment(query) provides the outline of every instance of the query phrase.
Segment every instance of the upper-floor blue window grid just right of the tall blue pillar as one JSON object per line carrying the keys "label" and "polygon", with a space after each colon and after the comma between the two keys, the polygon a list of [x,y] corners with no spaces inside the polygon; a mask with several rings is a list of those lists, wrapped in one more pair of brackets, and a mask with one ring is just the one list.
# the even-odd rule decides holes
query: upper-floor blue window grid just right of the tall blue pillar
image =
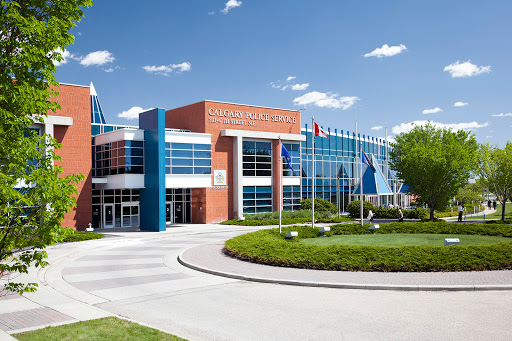
{"label": "upper-floor blue window grid just right of the tall blue pillar", "polygon": [[209,144],[165,143],[166,174],[211,174],[211,164]]}

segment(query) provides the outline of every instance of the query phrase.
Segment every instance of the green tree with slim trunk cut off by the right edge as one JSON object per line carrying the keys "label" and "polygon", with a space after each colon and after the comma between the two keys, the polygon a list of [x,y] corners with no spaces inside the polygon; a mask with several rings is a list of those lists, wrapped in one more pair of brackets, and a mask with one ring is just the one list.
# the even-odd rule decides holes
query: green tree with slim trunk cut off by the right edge
{"label": "green tree with slim trunk cut off by the right edge", "polygon": [[512,143],[507,142],[503,149],[481,145],[477,173],[501,203],[501,220],[505,220],[505,204],[512,198]]}

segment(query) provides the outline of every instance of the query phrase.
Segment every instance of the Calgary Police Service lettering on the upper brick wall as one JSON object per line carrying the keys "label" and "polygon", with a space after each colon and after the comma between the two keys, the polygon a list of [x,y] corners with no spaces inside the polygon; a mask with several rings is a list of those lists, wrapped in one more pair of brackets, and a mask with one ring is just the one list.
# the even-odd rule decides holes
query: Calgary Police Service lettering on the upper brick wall
{"label": "Calgary Police Service lettering on the upper brick wall", "polygon": [[284,115],[270,115],[249,111],[237,110],[222,110],[210,108],[208,110],[210,115],[209,123],[232,124],[232,125],[245,125],[256,126],[258,122],[273,122],[273,123],[297,123],[295,116]]}

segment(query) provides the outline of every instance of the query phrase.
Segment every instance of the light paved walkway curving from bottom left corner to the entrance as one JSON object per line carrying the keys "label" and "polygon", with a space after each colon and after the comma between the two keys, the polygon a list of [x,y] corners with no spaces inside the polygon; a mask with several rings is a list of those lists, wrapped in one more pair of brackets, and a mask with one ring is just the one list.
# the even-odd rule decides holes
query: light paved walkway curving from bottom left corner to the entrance
{"label": "light paved walkway curving from bottom left corner to the entrance", "polygon": [[49,265],[45,268],[30,268],[28,274],[14,279],[20,283],[37,283],[35,293],[23,296],[7,294],[0,297],[0,340],[14,340],[10,334],[22,333],[47,326],[86,321],[112,316],[111,313],[95,307],[102,303],[98,297],[69,285],[62,275],[64,267],[73,259],[93,255],[101,250],[119,245],[133,245],[147,241],[159,241],[176,236],[205,235],[223,231],[253,231],[245,227],[231,227],[217,224],[177,225],[165,232],[147,232],[138,229],[112,229],[100,231],[103,239],[78,243],[62,243],[50,246]]}

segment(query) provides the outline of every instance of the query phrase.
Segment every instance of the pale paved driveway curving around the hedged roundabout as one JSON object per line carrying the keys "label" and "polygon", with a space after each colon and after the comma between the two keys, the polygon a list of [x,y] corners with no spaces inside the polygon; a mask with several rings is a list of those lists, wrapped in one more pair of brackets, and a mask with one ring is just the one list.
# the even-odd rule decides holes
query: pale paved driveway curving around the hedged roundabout
{"label": "pale paved driveway curving around the hedged roundabout", "polygon": [[[189,247],[238,233],[197,225],[118,233],[49,250],[55,261],[38,276],[59,295],[78,299],[80,307],[190,340],[510,340],[512,335],[512,291],[288,286],[218,277],[177,262]],[[42,304],[51,307],[48,301]]]}

